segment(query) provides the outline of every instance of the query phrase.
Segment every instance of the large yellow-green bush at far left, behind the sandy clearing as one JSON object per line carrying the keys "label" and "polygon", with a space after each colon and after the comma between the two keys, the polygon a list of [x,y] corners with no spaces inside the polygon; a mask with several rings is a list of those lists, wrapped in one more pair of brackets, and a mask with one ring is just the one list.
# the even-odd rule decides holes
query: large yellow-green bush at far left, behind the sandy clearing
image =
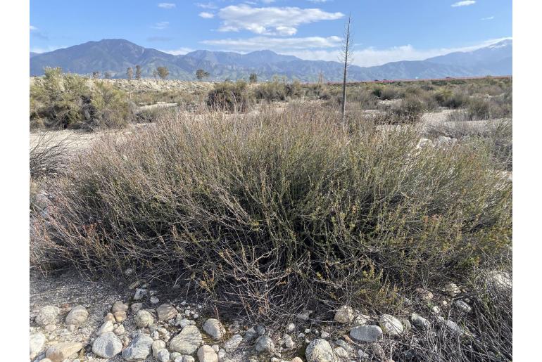
{"label": "large yellow-green bush at far left, behind the sandy clearing", "polygon": [[134,109],[113,85],[47,68],[30,87],[30,128],[97,129],[124,127]]}

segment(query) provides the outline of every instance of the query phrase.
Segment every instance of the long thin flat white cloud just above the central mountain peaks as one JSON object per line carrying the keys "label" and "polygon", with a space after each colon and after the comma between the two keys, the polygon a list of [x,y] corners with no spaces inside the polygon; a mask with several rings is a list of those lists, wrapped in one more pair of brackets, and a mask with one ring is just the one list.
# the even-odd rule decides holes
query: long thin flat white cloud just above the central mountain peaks
{"label": "long thin flat white cloud just above the central mountain peaks", "polygon": [[341,44],[339,37],[302,37],[302,38],[271,38],[253,37],[248,39],[218,39],[204,40],[201,44],[218,46],[222,49],[235,51],[256,51],[269,49],[272,51],[294,51],[299,49],[334,48]]}

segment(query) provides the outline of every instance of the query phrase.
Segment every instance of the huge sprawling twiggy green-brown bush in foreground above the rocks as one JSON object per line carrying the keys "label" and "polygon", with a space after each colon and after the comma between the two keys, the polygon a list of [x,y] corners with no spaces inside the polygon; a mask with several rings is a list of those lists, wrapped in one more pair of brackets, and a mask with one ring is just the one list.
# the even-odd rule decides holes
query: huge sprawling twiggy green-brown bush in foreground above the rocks
{"label": "huge sprawling twiggy green-brown bush in foreground above the rocks", "polygon": [[271,320],[307,301],[389,310],[414,285],[498,264],[512,187],[483,142],[418,149],[416,127],[339,120],[177,113],[105,137],[51,186],[33,265],[130,267]]}

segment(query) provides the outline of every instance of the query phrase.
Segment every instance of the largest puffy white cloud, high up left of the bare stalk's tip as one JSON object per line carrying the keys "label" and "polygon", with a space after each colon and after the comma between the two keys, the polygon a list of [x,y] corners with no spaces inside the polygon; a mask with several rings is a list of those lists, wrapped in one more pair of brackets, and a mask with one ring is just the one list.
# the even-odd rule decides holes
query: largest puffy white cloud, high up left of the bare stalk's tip
{"label": "largest puffy white cloud, high up left of the bare stalk's tip", "polygon": [[267,7],[253,8],[246,4],[221,8],[218,17],[222,19],[220,32],[248,30],[256,34],[291,36],[301,24],[320,20],[342,18],[343,13],[327,13],[319,8]]}

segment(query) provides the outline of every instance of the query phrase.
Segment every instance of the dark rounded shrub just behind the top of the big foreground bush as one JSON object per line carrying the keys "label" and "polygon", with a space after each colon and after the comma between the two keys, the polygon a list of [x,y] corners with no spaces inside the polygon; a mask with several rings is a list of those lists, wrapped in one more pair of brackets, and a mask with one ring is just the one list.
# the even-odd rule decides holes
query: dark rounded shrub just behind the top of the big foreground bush
{"label": "dark rounded shrub just behind the top of the big foreground bush", "polygon": [[250,98],[244,81],[215,84],[215,89],[209,91],[207,96],[207,105],[214,110],[246,112],[249,103]]}

